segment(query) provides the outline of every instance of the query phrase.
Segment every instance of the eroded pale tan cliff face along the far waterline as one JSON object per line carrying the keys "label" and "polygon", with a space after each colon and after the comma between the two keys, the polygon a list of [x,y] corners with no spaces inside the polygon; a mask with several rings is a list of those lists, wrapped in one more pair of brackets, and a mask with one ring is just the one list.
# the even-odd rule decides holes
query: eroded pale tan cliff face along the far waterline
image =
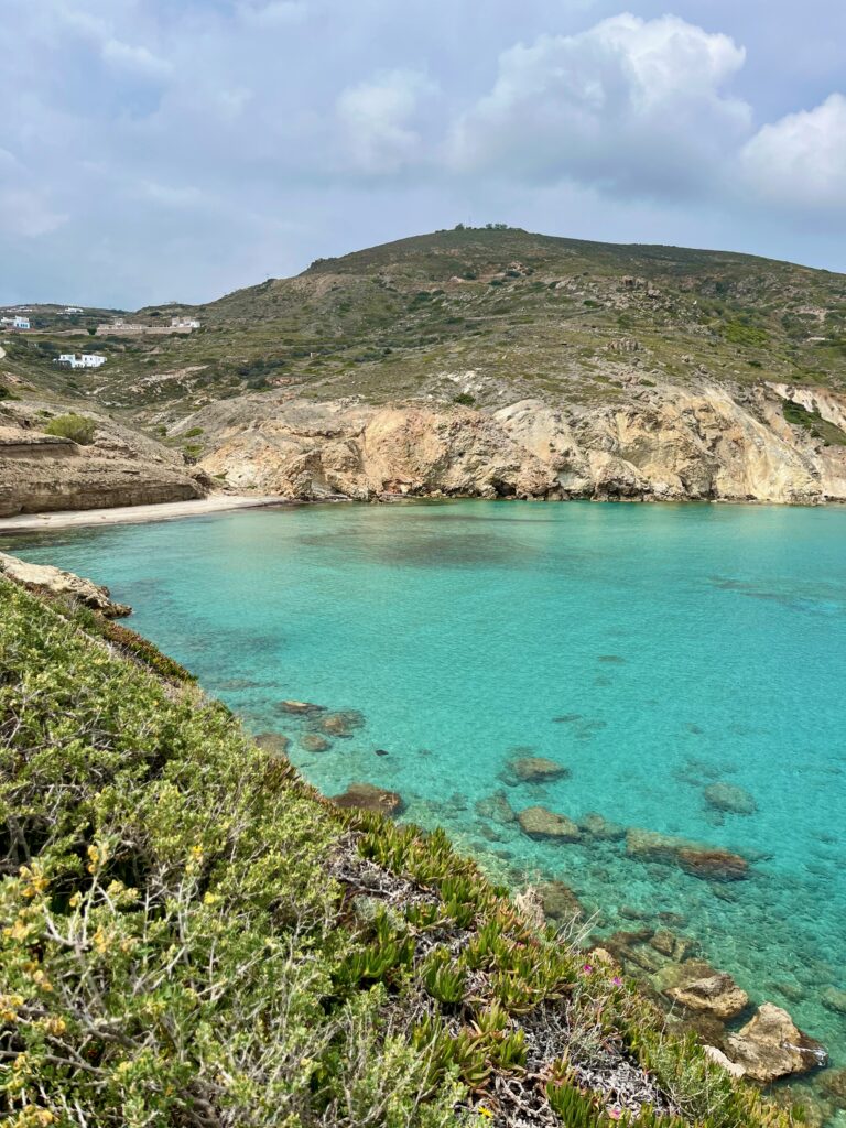
{"label": "eroded pale tan cliff face along the far waterline", "polygon": [[[846,423],[846,397],[838,407],[826,395],[829,414],[840,411]],[[620,405],[525,399],[491,414],[451,404],[256,398],[196,418],[217,443],[205,470],[290,497],[846,499],[846,448],[791,428],[782,390],[766,385],[744,390],[742,402],[716,385],[668,385]]]}

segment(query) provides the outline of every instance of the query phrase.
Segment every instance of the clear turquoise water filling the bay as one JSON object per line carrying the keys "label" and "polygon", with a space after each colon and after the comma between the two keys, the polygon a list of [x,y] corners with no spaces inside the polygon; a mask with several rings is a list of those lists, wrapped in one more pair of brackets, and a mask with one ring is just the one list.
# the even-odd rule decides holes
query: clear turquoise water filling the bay
{"label": "clear turquoise water filling the bay", "polygon": [[[510,880],[566,881],[603,929],[631,928],[632,908],[680,915],[715,966],[846,1065],[846,1019],[821,1005],[846,988],[846,510],[305,506],[5,547],[107,583],[256,732],[296,739],[284,698],[361,710],[328,751],[294,743],[318,786],[398,790],[406,818]],[[506,788],[518,808],[768,856],[713,885],[619,843],[494,827],[474,804],[515,748],[571,770]],[[757,812],[719,816],[715,781]]]}

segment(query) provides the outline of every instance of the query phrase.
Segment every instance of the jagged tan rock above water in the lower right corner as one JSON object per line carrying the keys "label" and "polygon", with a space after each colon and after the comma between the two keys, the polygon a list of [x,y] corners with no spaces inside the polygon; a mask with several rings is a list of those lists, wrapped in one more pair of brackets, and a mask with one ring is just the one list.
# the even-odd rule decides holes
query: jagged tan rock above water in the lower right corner
{"label": "jagged tan rock above water in the lower right corner", "polygon": [[799,1076],[828,1063],[825,1047],[803,1033],[778,1006],[764,1003],[755,1017],[728,1038],[726,1050],[746,1076],[761,1085]]}

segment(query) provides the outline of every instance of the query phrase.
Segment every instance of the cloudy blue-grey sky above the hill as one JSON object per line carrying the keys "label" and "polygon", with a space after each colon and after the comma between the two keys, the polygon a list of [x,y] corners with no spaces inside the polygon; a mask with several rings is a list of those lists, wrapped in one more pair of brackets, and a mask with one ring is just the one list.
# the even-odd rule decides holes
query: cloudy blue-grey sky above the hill
{"label": "cloudy blue-grey sky above the hill", "polygon": [[0,303],[458,222],[846,272],[844,0],[0,0]]}

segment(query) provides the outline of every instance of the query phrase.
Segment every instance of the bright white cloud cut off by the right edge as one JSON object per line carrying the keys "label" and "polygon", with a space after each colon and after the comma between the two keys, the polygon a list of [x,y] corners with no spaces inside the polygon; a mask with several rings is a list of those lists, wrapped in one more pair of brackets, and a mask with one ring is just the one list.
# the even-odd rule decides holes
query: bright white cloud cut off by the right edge
{"label": "bright white cloud cut off by the right edge", "polygon": [[765,125],[743,148],[741,175],[761,201],[846,215],[846,97]]}

